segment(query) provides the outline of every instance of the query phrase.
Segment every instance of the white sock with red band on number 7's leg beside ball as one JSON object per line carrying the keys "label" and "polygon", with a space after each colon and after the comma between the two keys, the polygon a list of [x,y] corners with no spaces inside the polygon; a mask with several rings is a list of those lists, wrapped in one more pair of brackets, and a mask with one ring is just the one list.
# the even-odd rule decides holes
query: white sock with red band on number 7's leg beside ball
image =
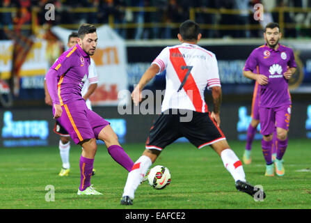
{"label": "white sock with red band on number 7's leg beside ball", "polygon": [[150,157],[147,157],[147,155],[139,157],[127,175],[127,183],[125,183],[122,197],[129,196],[131,199],[134,199],[135,190],[138,185],[141,184],[141,180],[143,180],[143,177],[151,165],[152,161]]}

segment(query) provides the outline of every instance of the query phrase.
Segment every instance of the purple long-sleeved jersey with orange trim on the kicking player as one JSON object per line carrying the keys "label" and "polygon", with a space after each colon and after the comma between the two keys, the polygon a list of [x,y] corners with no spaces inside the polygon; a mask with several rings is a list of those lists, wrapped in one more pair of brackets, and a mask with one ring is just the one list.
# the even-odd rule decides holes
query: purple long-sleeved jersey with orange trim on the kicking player
{"label": "purple long-sleeved jersey with orange trim on the kicking player", "polygon": [[[57,77],[47,75],[47,86],[51,90],[53,104],[64,105],[72,101],[82,100],[81,89],[88,78],[90,56],[77,44],[61,54],[51,66]],[[53,78],[57,78],[55,84]]]}

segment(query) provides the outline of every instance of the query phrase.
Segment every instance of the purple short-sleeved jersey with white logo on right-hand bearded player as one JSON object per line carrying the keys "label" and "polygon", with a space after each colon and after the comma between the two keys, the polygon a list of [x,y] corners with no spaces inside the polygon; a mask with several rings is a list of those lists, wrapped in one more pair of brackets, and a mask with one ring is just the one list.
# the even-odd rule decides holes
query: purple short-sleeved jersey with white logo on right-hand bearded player
{"label": "purple short-sleeved jersey with white logo on right-hand bearded player", "polygon": [[291,48],[279,45],[277,50],[266,44],[253,50],[248,57],[244,70],[268,77],[268,84],[260,86],[260,107],[280,107],[291,105],[288,81],[283,73],[289,68],[296,68],[294,52]]}

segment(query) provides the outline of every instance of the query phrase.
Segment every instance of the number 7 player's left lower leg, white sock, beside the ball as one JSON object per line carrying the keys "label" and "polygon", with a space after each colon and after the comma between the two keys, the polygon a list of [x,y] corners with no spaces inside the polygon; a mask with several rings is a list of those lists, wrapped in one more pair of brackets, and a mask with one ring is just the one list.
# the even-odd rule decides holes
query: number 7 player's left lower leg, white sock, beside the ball
{"label": "number 7 player's left lower leg, white sock, beside the ball", "polygon": [[125,183],[124,192],[122,194],[121,204],[133,204],[134,193],[137,187],[141,184],[141,180],[151,167],[152,163],[157,160],[161,151],[155,149],[145,149],[143,155],[134,163],[133,168],[127,176],[127,183]]}

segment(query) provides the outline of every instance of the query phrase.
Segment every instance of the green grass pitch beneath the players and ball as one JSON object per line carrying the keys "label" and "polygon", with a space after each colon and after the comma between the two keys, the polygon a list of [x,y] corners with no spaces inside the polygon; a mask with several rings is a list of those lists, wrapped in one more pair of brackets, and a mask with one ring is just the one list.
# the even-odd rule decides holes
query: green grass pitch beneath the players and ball
{"label": "green grass pitch beneath the players and ball", "polygon": [[[164,190],[154,190],[147,182],[136,190],[133,206],[121,206],[127,171],[113,161],[105,146],[97,148],[91,183],[99,196],[78,196],[81,147],[70,149],[70,176],[60,177],[61,157],[57,146],[0,149],[1,208],[311,208],[311,141],[290,139],[285,153],[285,176],[264,176],[265,163],[260,141],[253,144],[253,162],[244,165],[246,179],[262,185],[264,201],[254,201],[238,192],[234,180],[218,155],[208,146],[201,150],[191,144],[172,144],[152,165],[170,169],[172,183]],[[244,142],[230,141],[241,159]],[[143,144],[125,144],[125,151],[136,161]],[[299,171],[304,169],[306,171]],[[55,201],[47,202],[47,185],[55,188]]]}

